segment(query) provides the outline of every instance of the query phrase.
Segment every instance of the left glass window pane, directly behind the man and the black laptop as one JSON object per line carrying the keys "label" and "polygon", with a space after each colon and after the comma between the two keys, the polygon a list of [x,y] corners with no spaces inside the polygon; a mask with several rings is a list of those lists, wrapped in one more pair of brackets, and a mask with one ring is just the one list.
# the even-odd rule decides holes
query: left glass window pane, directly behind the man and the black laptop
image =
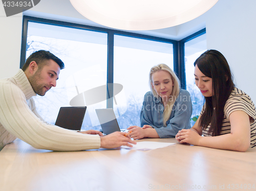
{"label": "left glass window pane, directly behind the man and the black laptop", "polygon": [[[106,84],[107,36],[106,33],[28,23],[26,57],[35,51],[47,50],[65,63],[56,87],[44,97],[35,98],[38,112],[48,123],[54,124],[59,108],[70,106],[71,100],[79,93]],[[106,97],[106,91],[100,93],[105,93]],[[105,108],[106,101],[86,105],[88,108],[82,128],[97,126],[98,129],[95,108]]]}

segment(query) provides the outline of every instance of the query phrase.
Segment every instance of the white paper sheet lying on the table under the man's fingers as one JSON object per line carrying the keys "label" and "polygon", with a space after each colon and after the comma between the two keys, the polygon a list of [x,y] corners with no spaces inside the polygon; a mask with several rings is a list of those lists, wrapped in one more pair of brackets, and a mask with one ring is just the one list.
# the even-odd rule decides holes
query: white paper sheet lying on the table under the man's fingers
{"label": "white paper sheet lying on the table under the man's fingers", "polygon": [[127,146],[122,146],[121,148],[123,149],[131,149],[131,150],[141,150],[141,151],[147,151],[147,150],[152,150],[152,149],[159,149],[163,147],[167,147],[170,145],[174,145],[175,143],[171,142],[154,142],[154,141],[141,141],[137,142],[136,145],[131,144],[133,147],[127,147]]}

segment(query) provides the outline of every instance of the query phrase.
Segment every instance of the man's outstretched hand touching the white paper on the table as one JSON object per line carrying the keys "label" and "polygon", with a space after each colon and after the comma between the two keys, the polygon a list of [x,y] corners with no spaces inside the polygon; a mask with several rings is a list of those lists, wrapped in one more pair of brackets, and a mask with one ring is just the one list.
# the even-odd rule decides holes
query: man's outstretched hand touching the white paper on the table
{"label": "man's outstretched hand touching the white paper on the table", "polygon": [[[100,147],[105,148],[105,149],[112,149],[112,148],[117,148],[121,146],[128,146],[128,147],[133,147],[131,144],[136,145],[137,143],[132,140],[127,134],[124,136],[126,133],[125,132],[114,132],[109,135],[101,136],[100,137]],[[129,144],[129,142],[131,144]]]}

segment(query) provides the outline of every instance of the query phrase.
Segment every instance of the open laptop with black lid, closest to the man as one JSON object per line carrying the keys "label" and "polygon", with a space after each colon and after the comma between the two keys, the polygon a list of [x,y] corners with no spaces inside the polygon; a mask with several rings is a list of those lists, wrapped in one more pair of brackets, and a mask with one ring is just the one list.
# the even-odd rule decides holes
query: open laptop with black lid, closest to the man
{"label": "open laptop with black lid, closest to the man", "polygon": [[86,106],[60,107],[55,125],[65,129],[80,131],[84,114],[86,114],[86,108]]}

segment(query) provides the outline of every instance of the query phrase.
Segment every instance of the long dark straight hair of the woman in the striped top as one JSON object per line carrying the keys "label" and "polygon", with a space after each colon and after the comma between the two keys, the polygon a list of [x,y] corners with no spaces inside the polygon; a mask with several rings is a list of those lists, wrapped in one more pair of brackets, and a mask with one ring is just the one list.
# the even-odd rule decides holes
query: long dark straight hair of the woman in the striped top
{"label": "long dark straight hair of the woman in the striped top", "polygon": [[[224,106],[234,88],[233,76],[225,57],[216,50],[204,52],[194,63],[200,71],[212,79],[212,96],[205,97],[205,109],[199,125],[209,133],[218,136],[221,133]],[[215,109],[214,109],[215,108]]]}

